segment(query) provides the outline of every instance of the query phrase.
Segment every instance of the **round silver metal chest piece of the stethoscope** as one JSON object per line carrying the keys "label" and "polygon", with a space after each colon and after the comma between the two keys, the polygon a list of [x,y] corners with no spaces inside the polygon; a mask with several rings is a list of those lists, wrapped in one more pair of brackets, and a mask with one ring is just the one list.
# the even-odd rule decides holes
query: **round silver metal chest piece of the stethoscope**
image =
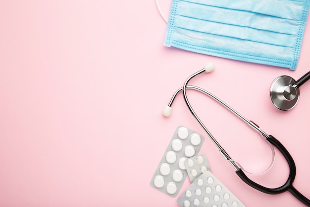
{"label": "round silver metal chest piece of the stethoscope", "polygon": [[283,111],[292,109],[299,99],[299,87],[294,78],[282,75],[277,77],[270,87],[270,98],[273,105]]}

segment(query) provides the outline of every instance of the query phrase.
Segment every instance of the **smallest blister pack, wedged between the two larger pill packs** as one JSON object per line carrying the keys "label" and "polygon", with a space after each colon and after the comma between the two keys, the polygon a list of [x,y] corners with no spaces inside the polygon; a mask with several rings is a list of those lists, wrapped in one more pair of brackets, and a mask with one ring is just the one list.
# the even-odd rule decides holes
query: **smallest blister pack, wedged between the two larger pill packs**
{"label": "smallest blister pack, wedged between the two larger pill packs", "polygon": [[185,168],[191,183],[203,173],[210,170],[209,163],[205,154],[190,157],[185,161]]}

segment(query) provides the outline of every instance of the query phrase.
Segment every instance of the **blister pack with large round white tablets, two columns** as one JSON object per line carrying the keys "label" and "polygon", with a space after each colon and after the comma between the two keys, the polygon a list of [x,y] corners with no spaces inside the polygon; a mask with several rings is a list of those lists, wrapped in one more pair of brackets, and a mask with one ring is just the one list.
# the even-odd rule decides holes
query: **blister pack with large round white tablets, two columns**
{"label": "blister pack with large round white tablets, two columns", "polygon": [[198,154],[204,140],[202,135],[186,127],[178,127],[155,170],[151,186],[176,197],[187,177],[184,162]]}

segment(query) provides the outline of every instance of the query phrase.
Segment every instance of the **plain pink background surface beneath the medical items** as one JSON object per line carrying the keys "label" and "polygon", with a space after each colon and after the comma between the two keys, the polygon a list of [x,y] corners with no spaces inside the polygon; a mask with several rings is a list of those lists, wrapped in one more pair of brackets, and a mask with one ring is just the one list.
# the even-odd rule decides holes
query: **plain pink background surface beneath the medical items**
{"label": "plain pink background surface beneath the medical items", "polygon": [[[168,15],[170,0],[160,0]],[[163,46],[165,22],[154,0],[2,0],[0,2],[0,206],[178,207],[150,186],[179,125],[204,134],[178,96],[193,80],[278,138],[297,165],[294,186],[310,197],[310,83],[288,112],[269,87],[279,75],[310,69],[310,25],[296,71],[194,54]],[[270,149],[211,99],[189,91],[193,107],[226,151],[262,169]],[[302,207],[291,194],[266,195],[243,183],[204,134],[200,151],[212,173],[247,207]],[[255,164],[256,163],[256,164]],[[281,185],[288,167],[276,151],[271,171],[253,176]],[[181,190],[190,185],[187,179]],[[179,194],[181,194],[181,192]]]}

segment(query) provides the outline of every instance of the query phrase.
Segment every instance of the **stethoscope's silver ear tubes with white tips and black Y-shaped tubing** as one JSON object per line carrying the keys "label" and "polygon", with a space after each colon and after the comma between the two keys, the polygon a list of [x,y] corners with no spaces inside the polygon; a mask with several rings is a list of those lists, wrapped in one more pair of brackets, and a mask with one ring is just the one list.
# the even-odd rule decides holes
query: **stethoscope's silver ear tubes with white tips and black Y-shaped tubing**
{"label": "stethoscope's silver ear tubes with white tips and black Y-shaped tubing", "polygon": [[[293,182],[294,179],[296,177],[296,165],[295,162],[292,158],[292,156],[290,155],[290,153],[288,152],[288,150],[281,144],[280,141],[278,141],[276,138],[274,138],[271,135],[266,134],[265,132],[263,132],[257,124],[255,124],[252,121],[249,121],[248,119],[246,119],[245,117],[243,117],[241,114],[239,114],[237,111],[235,111],[233,108],[231,108],[229,105],[227,105],[226,103],[224,103],[222,100],[220,100],[219,98],[217,98],[216,96],[214,96],[213,94],[211,94],[210,92],[206,91],[203,88],[197,87],[197,86],[192,86],[192,85],[188,85],[189,81],[203,73],[203,72],[210,72],[214,69],[214,65],[213,64],[208,64],[204,69],[199,70],[198,72],[192,74],[191,76],[189,76],[186,81],[184,82],[184,85],[182,88],[178,89],[170,103],[164,107],[163,109],[163,115],[164,116],[170,116],[171,114],[171,105],[176,97],[176,95],[179,92],[183,92],[183,97],[185,100],[185,103],[187,105],[187,107],[189,108],[190,112],[192,113],[192,115],[194,116],[194,118],[196,119],[196,121],[199,123],[199,125],[203,128],[203,130],[207,133],[208,137],[211,139],[211,141],[216,145],[216,147],[219,149],[220,154],[226,159],[228,160],[228,162],[232,165],[232,167],[235,169],[237,175],[241,178],[241,180],[243,180],[246,184],[248,184],[249,186],[257,189],[258,191],[261,191],[263,193],[266,194],[280,194],[280,193],[284,193],[286,191],[290,192],[294,197],[296,197],[298,200],[300,200],[302,203],[304,203],[306,206],[310,207],[310,200],[307,199],[304,195],[302,195],[298,190],[296,190],[296,188],[294,188],[293,186]],[[309,79],[309,74],[307,76],[307,78]],[[306,78],[306,79],[307,79]],[[279,78],[282,79],[282,78]],[[303,83],[305,80],[301,80],[301,82]],[[275,81],[277,82],[277,81]],[[281,82],[281,81],[280,81]],[[295,81],[293,81],[295,82]],[[296,81],[298,83],[298,81]],[[296,83],[295,82],[295,83]],[[297,84],[297,86],[300,86],[301,84]],[[273,88],[273,87],[272,87]],[[295,87],[296,89],[297,87]],[[243,168],[240,167],[240,165],[238,165],[237,162],[235,162],[229,155],[228,153],[221,147],[221,145],[216,141],[216,139],[211,135],[211,133],[207,130],[206,126],[203,124],[203,122],[200,120],[200,118],[197,116],[197,114],[195,113],[195,111],[193,110],[191,104],[188,101],[187,95],[186,95],[186,91],[187,89],[194,89],[197,91],[200,91],[204,94],[206,94],[207,96],[211,97],[212,99],[214,99],[215,101],[217,101],[218,103],[220,103],[221,105],[223,105],[225,108],[227,108],[228,110],[230,110],[233,114],[235,114],[237,117],[239,117],[241,120],[243,120],[245,123],[247,123],[251,128],[253,128],[254,130],[256,130],[266,141],[268,141],[269,143],[271,143],[273,146],[275,146],[276,148],[279,149],[279,151],[282,153],[282,155],[284,156],[284,158],[286,159],[288,165],[289,165],[289,169],[290,169],[290,173],[288,176],[287,181],[280,187],[278,188],[266,188],[264,186],[259,185],[258,183],[252,181],[251,179],[249,179],[246,174],[243,172]]]}

